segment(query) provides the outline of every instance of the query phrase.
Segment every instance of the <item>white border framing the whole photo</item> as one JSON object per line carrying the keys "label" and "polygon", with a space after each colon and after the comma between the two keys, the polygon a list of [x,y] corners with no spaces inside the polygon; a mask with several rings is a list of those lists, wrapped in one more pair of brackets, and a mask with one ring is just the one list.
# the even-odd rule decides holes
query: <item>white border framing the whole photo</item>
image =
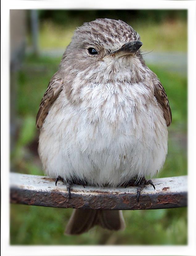
{"label": "white border framing the whole photo", "polygon": [[[196,255],[196,200],[194,186],[196,117],[196,1],[63,1],[4,0],[1,2],[1,252],[2,255]],[[9,227],[9,12],[10,9],[186,9],[188,10],[188,245],[179,246],[15,246]],[[186,232],[186,231],[185,231]]]}

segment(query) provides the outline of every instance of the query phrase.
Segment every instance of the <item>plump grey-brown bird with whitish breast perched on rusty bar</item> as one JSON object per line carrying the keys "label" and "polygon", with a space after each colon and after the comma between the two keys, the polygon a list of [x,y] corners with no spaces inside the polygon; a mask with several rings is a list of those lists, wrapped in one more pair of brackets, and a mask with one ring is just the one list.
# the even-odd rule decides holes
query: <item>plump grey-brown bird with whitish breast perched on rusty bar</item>
{"label": "plump grey-brown bird with whitish breast perched on rusty bar", "polygon": [[[153,39],[152,39],[153,42]],[[96,19],[74,31],[36,117],[45,174],[83,186],[155,186],[167,155],[172,114],[140,35],[122,20]],[[94,225],[125,228],[122,211],[74,209],[69,235]]]}

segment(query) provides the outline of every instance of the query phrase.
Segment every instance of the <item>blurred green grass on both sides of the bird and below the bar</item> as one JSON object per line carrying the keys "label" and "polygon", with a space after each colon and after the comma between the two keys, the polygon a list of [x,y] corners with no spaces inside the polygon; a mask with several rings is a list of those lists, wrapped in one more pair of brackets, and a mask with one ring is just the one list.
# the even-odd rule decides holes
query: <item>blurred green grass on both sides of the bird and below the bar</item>
{"label": "blurred green grass on both sides of the bird and below the bar", "polygon": [[[17,118],[19,130],[11,154],[16,172],[43,175],[37,155],[39,131],[35,117],[40,100],[60,58],[27,56],[17,76]],[[169,127],[168,156],[158,177],[187,174],[186,123],[187,78],[149,66],[160,78],[173,113]],[[127,228],[110,232],[95,227],[80,236],[64,236],[72,209],[26,205],[10,206],[11,245],[186,245],[187,209],[123,211]]]}

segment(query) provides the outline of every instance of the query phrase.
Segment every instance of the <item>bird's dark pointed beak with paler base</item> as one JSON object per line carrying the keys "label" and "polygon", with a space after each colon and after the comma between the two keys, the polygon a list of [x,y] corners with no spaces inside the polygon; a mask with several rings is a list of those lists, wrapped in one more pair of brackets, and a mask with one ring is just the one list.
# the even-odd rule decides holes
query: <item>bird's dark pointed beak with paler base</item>
{"label": "bird's dark pointed beak with paler base", "polygon": [[111,55],[114,55],[116,58],[119,58],[119,57],[127,55],[127,54],[134,55],[140,49],[140,47],[142,45],[143,44],[140,41],[128,42],[128,43],[124,44],[123,47],[121,47],[120,49],[111,53]]}

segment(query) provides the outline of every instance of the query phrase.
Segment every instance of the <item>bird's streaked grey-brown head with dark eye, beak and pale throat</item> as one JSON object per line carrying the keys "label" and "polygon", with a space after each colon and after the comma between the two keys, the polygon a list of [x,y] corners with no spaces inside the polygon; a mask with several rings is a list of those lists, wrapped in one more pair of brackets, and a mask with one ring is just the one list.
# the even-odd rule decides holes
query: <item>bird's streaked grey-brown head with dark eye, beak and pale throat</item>
{"label": "bird's streaked grey-brown head with dark eye, beak and pale throat", "polygon": [[[89,73],[113,76],[140,62],[139,34],[127,23],[96,19],[78,27],[67,47],[61,66]],[[136,54],[137,53],[137,54]]]}

